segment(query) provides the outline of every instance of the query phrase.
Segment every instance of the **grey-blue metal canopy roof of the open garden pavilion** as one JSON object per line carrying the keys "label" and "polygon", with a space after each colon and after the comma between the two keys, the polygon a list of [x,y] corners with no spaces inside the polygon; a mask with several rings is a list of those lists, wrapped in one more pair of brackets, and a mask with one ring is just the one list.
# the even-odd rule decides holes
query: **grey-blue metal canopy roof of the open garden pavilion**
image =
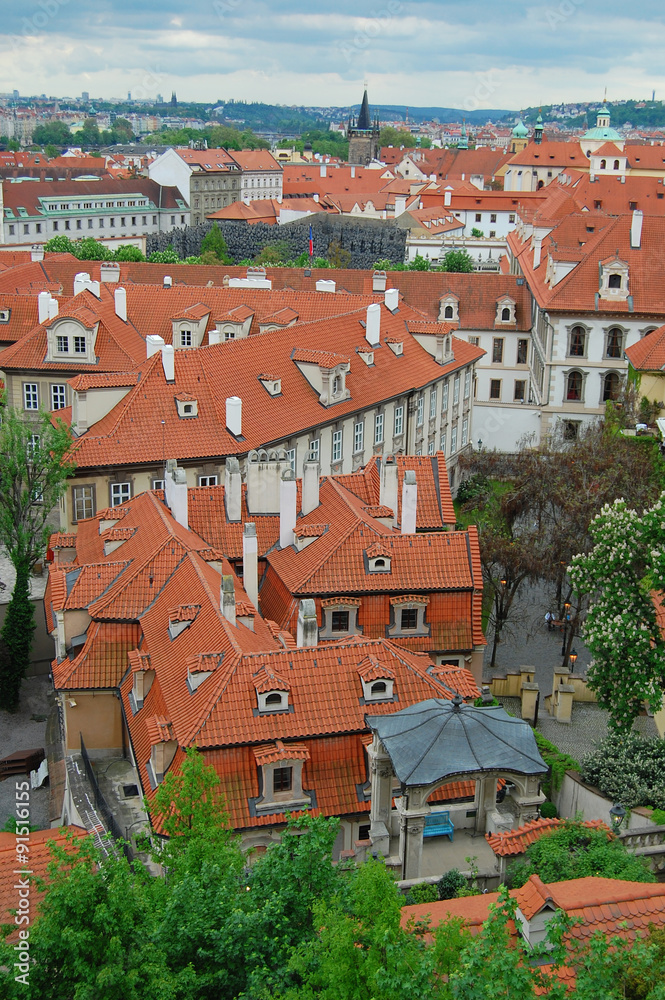
{"label": "grey-blue metal canopy roof of the open garden pavilion", "polygon": [[444,778],[479,771],[544,774],[527,722],[499,706],[476,708],[431,698],[392,715],[366,715],[403,785],[430,785]]}

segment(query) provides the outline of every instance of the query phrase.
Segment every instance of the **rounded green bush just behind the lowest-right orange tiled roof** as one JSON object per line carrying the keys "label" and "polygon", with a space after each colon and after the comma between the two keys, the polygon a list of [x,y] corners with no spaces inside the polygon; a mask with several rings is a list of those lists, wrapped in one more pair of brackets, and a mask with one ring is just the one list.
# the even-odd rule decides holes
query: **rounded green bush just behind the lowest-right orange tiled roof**
{"label": "rounded green bush just behind the lowest-right orange tiled roof", "polygon": [[616,837],[577,822],[562,823],[530,844],[524,860],[510,869],[511,884],[524,885],[534,874],[545,883],[588,875],[628,882],[656,881],[648,864],[630,854]]}

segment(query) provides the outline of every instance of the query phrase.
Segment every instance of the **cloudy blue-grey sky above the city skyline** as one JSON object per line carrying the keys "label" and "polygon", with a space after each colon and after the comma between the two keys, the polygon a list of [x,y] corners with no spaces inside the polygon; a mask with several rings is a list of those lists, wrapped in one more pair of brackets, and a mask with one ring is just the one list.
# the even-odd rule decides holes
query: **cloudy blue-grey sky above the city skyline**
{"label": "cloudy blue-grey sky above the city skyline", "polygon": [[656,0],[0,0],[0,91],[514,108],[665,99]]}

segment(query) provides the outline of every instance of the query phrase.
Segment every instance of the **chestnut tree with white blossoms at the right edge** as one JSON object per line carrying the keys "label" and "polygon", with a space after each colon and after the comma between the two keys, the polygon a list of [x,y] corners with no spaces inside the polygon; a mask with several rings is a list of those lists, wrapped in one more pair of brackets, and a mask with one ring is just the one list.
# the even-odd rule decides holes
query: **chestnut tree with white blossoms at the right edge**
{"label": "chestnut tree with white blossoms at the right edge", "polygon": [[592,655],[588,682],[610,725],[628,732],[646,701],[657,711],[665,690],[665,640],[656,604],[665,591],[665,493],[641,514],[615,500],[592,521],[593,548],[569,567],[575,590],[591,595],[583,626]]}

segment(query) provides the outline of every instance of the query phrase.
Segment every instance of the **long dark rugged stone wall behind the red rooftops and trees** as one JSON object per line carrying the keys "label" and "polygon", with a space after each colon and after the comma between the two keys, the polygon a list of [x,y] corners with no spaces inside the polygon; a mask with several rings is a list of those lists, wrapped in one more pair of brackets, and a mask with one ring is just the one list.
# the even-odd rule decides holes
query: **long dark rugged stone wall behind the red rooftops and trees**
{"label": "long dark rugged stone wall behind the red rooftops and trees", "polygon": [[[334,240],[351,253],[352,268],[373,268],[375,261],[387,259],[393,263],[404,260],[407,231],[398,229],[392,220],[355,219],[346,215],[309,216],[283,226],[268,226],[262,222],[220,220],[219,226],[234,261],[252,260],[268,243],[285,242],[293,257],[309,249],[309,225],[312,224],[314,256],[325,257]],[[211,222],[200,226],[173,229],[170,233],[155,233],[147,237],[147,254],[172,246],[181,259],[198,256],[201,241],[212,227]]]}

